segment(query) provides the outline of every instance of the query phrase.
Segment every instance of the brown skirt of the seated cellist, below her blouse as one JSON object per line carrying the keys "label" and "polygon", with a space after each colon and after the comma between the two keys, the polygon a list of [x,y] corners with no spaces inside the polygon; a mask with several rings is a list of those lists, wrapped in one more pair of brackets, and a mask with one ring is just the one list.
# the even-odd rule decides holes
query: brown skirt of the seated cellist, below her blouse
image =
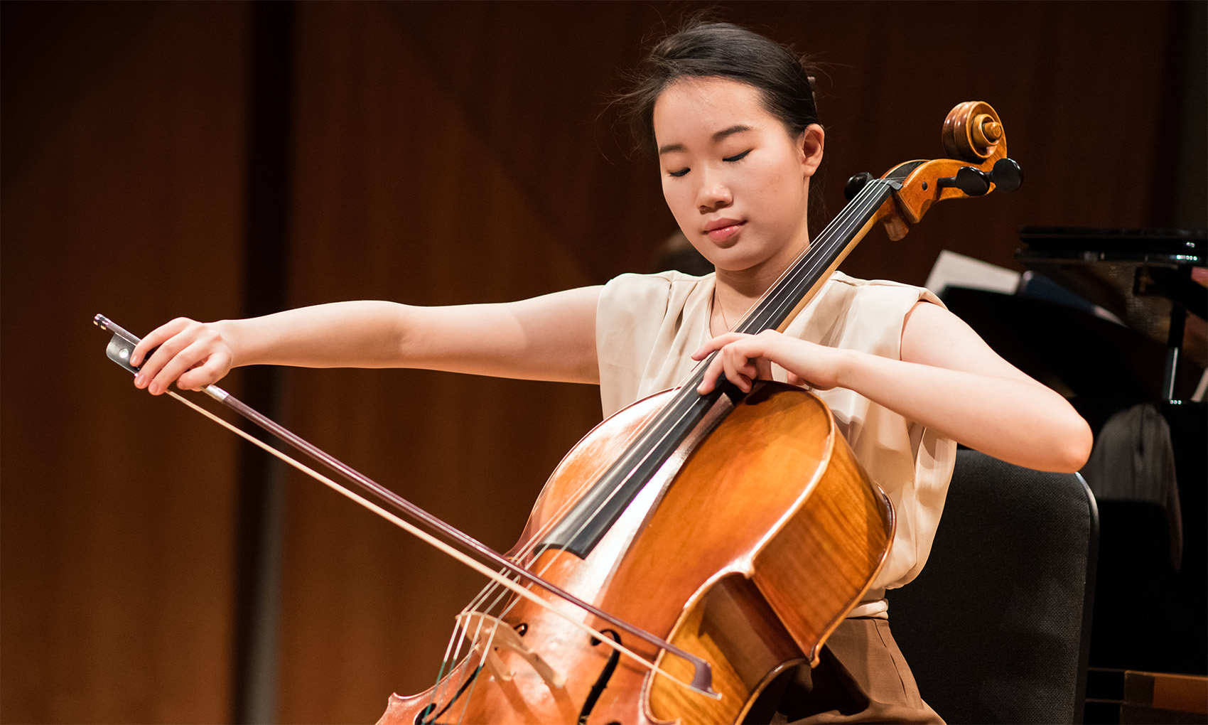
{"label": "brown skirt of the seated cellist, below her blouse", "polygon": [[943,725],[919,696],[889,621],[871,617],[843,620],[818,667],[802,665],[777,678],[747,721]]}

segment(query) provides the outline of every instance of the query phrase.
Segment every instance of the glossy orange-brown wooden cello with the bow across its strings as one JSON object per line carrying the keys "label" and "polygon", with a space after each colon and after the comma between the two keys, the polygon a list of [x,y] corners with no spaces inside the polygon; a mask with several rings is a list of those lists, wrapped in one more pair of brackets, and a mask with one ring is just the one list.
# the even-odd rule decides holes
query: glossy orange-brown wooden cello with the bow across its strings
{"label": "glossy orange-brown wooden cello with the bow across its strings", "polygon": [[[737,330],[783,330],[875,222],[898,239],[936,201],[1017,186],[987,104],[953,109],[943,138],[960,158],[854,179],[848,207]],[[98,324],[121,362],[137,338]],[[769,382],[699,395],[704,367],[568,453],[505,556],[283,435],[505,570],[459,615],[449,671],[428,692],[391,696],[382,723],[741,721],[779,672],[817,662],[884,562],[892,507],[818,398]]]}

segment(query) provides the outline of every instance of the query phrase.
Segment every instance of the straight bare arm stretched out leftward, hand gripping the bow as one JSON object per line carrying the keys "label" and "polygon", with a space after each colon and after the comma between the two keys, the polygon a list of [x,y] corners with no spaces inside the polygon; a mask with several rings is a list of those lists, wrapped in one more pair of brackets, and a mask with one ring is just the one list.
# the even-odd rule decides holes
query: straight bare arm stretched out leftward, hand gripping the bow
{"label": "straight bare arm stretched out leftward, hand gripping the bow", "polygon": [[[240,365],[426,367],[525,379],[598,383],[598,286],[496,304],[413,307],[336,302],[261,318],[178,318],[134,349],[135,385],[204,388]],[[158,348],[146,362],[152,349]]]}

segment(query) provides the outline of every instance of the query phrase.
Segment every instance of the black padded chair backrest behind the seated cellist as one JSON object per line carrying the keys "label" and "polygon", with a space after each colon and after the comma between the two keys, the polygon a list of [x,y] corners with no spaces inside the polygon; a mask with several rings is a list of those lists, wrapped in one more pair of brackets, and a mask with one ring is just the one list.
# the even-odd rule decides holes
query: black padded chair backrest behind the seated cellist
{"label": "black padded chair backrest behind the seated cellist", "polygon": [[949,723],[1081,723],[1097,550],[1081,476],[958,452],[927,567],[889,592],[928,704]]}

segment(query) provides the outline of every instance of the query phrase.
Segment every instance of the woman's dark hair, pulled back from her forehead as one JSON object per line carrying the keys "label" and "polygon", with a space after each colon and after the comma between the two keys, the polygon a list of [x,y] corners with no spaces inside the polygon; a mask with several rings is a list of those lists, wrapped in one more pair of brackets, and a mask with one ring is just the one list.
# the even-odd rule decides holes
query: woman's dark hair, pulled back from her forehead
{"label": "woman's dark hair, pulled back from her forehead", "polygon": [[691,22],[658,42],[617,98],[639,149],[654,152],[655,102],[681,77],[724,77],[754,86],[763,108],[796,138],[818,123],[809,77],[815,66],[762,35],[730,23]]}

